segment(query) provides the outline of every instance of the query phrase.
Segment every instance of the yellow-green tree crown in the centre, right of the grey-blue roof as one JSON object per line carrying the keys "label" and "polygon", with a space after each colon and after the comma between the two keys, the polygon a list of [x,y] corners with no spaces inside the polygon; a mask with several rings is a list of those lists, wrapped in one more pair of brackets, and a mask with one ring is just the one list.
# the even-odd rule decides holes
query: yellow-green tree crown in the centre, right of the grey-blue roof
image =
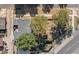
{"label": "yellow-green tree crown in the centre, right of the grey-blue roof", "polygon": [[36,16],[32,19],[31,28],[35,35],[46,34],[47,18],[44,16]]}

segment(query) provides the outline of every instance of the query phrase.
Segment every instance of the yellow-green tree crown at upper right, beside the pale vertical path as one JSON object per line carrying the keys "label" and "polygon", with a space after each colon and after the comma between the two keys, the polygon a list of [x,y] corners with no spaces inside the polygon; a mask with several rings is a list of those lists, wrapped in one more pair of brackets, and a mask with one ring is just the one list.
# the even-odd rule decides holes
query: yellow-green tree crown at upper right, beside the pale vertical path
{"label": "yellow-green tree crown at upper right, beside the pale vertical path", "polygon": [[68,24],[68,20],[69,20],[68,11],[66,9],[61,9],[57,15],[57,24],[65,26],[66,24]]}

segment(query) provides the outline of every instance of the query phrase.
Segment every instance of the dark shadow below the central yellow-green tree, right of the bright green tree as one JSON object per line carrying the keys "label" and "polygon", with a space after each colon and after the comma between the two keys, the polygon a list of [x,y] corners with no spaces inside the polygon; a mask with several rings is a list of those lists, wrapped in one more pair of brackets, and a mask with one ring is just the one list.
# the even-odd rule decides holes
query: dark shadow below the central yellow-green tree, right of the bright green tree
{"label": "dark shadow below the central yellow-green tree, right of the bright green tree", "polygon": [[46,45],[46,41],[47,41],[47,35],[35,35],[35,37],[37,38],[37,42],[38,42],[38,46],[35,47],[35,49],[33,49],[32,51],[36,51],[37,53],[41,53]]}

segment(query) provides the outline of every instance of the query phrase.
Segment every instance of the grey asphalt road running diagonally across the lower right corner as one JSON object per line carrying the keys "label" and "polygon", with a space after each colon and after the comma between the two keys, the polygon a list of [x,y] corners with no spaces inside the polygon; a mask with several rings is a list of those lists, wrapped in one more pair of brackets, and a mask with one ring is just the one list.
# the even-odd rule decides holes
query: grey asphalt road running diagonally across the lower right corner
{"label": "grey asphalt road running diagonally across the lower right corner", "polygon": [[79,54],[79,31],[75,32],[73,37],[57,54]]}

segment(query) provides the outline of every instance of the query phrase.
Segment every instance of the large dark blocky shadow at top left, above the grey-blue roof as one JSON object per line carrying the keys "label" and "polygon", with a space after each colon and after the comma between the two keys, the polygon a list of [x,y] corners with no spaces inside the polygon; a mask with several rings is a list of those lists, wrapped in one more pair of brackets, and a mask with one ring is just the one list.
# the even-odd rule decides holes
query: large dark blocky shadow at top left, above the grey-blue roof
{"label": "large dark blocky shadow at top left, above the grey-blue roof", "polygon": [[30,13],[31,16],[37,14],[38,4],[15,4],[16,17],[23,17],[25,14]]}

